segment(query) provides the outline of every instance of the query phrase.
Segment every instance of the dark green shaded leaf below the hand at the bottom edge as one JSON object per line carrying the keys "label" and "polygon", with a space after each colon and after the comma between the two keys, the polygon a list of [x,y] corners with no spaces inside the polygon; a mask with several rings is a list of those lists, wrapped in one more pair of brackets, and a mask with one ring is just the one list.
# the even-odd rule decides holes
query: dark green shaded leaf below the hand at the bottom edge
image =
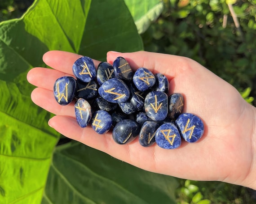
{"label": "dark green shaded leaf below the hand at the bottom edge", "polygon": [[42,203],[172,204],[176,187],[172,177],[138,169],[72,142],[54,152]]}

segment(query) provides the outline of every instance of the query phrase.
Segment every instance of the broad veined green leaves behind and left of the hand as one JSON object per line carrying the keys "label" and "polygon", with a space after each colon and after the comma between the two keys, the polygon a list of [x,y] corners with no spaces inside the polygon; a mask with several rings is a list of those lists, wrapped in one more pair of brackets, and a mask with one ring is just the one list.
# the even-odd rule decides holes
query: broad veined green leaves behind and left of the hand
{"label": "broad veined green leaves behind and left of the hand", "polygon": [[1,204],[38,204],[42,196],[43,203],[174,202],[175,178],[78,142],[56,147],[52,115],[31,102],[34,87],[26,81],[49,50],[106,60],[109,50],[142,49],[123,0],[35,0],[22,18],[0,23]]}

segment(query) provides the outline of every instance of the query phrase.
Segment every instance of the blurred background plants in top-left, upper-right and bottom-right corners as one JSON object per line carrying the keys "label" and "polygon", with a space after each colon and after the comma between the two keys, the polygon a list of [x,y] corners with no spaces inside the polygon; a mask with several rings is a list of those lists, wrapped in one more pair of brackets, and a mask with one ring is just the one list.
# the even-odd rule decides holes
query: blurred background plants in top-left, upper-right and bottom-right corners
{"label": "blurred background plants in top-left, upper-right and bottom-right corners", "polygon": [[[20,17],[32,3],[1,0],[0,21]],[[256,105],[256,0],[163,0],[162,5],[160,17],[138,30],[145,50],[190,57]],[[255,191],[245,187],[178,181],[180,204],[256,203]]]}

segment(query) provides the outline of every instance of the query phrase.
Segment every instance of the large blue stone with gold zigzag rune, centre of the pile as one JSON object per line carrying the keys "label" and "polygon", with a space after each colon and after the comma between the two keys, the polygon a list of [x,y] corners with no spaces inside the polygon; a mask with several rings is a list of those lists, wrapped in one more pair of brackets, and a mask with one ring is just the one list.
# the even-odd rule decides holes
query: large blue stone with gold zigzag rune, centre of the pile
{"label": "large blue stone with gold zigzag rune, centre of the pile", "polygon": [[130,90],[124,81],[113,78],[104,82],[99,88],[99,94],[111,103],[123,103],[130,97]]}

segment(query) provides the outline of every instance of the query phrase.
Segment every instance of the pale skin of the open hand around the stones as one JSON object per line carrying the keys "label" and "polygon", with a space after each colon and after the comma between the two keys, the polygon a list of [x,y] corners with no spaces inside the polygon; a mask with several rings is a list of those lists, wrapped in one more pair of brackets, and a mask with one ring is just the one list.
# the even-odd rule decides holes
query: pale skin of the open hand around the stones
{"label": "pale skin of the open hand around the stones", "polygon": [[[72,64],[81,55],[49,51],[43,56],[49,68],[33,68],[27,80],[37,86],[31,93],[35,104],[56,116],[49,120],[66,137],[99,149],[141,169],[179,178],[222,181],[256,189],[256,108],[248,104],[229,83],[192,59],[150,52],[108,52],[112,64],[122,56],[133,71],[145,67],[168,77],[169,93],[182,93],[184,112],[198,115],[205,124],[196,143],[182,141],[177,149],[156,144],[142,147],[138,139],[116,144],[111,132],[98,135],[91,127],[81,128],[75,119],[74,102],[59,105],[53,84],[61,76],[73,76]],[[100,63],[94,60],[97,65]]]}

